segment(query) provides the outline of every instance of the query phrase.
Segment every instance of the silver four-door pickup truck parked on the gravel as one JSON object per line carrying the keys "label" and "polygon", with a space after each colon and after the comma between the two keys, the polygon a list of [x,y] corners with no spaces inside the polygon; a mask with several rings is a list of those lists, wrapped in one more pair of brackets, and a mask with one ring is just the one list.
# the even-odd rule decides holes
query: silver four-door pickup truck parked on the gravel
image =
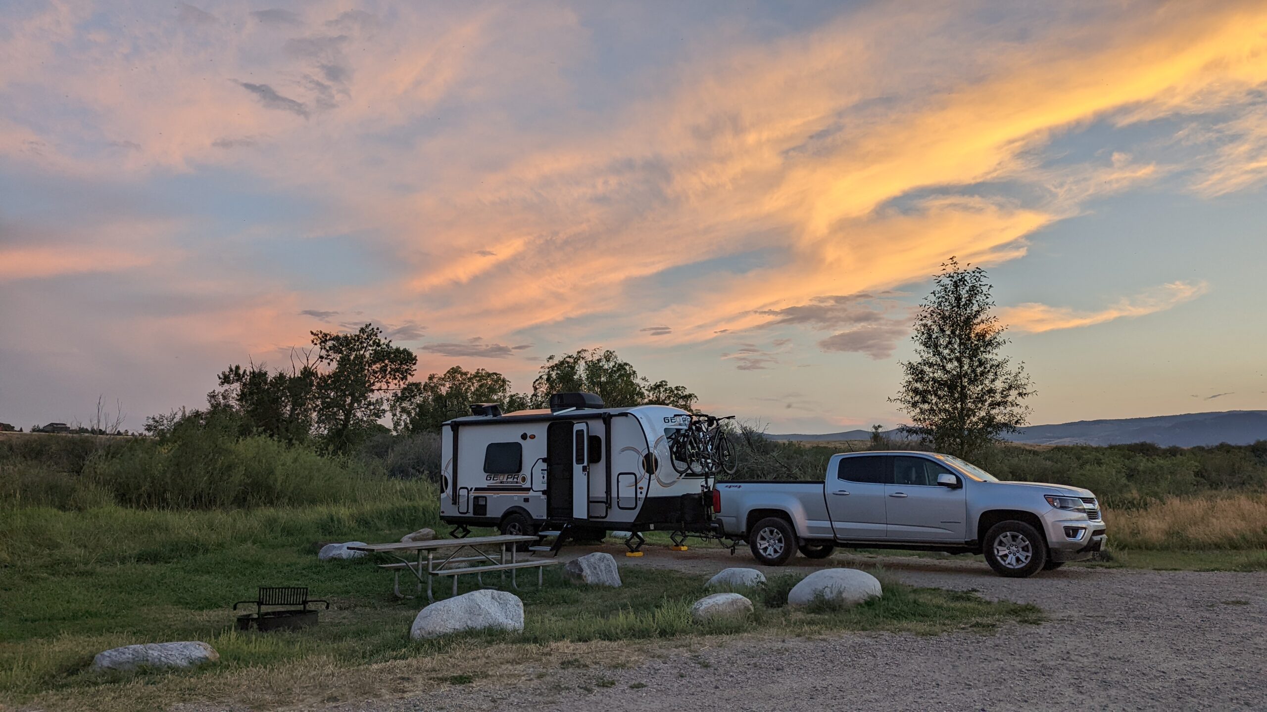
{"label": "silver four-door pickup truck parked on the gravel", "polygon": [[1005,576],[1090,559],[1105,542],[1090,490],[1000,481],[950,455],[834,455],[826,481],[722,480],[717,518],[758,561],[779,566],[836,546],[984,554]]}

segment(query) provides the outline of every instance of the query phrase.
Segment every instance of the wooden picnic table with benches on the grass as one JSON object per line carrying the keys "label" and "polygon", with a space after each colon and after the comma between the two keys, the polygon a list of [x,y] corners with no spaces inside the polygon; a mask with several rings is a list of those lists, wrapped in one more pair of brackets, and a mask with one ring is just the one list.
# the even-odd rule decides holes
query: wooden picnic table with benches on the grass
{"label": "wooden picnic table with benches on the grass", "polygon": [[[427,584],[427,601],[435,601],[431,593],[431,580],[435,576],[452,576],[454,595],[457,595],[457,576],[462,574],[475,574],[479,585],[484,585],[484,573],[500,571],[506,580],[506,571],[511,571],[511,585],[519,588],[514,575],[519,569],[537,570],[537,587],[542,583],[542,569],[557,564],[556,559],[533,559],[519,561],[517,559],[518,545],[536,542],[537,537],[525,535],[498,535],[498,536],[471,536],[466,538],[433,538],[430,541],[399,541],[392,544],[367,544],[365,546],[348,546],[352,551],[365,551],[369,554],[386,554],[398,560],[395,564],[380,564],[383,569],[395,573],[393,592],[398,598],[413,598],[400,593],[400,570],[405,569],[418,579],[418,593],[422,593],[422,584]],[[490,550],[497,547],[497,552]],[[441,551],[447,551],[447,555]],[[417,554],[417,561],[407,559]],[[507,560],[509,556],[509,561]],[[426,563],[424,563],[426,561]]]}

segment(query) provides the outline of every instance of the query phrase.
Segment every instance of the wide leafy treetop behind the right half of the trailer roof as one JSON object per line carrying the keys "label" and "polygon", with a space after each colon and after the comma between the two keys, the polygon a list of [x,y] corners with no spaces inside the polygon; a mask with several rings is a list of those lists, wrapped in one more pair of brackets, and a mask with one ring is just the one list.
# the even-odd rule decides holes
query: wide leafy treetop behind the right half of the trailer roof
{"label": "wide leafy treetop behind the right half of the trailer roof", "polygon": [[684,386],[663,380],[650,383],[614,351],[598,348],[582,348],[575,353],[546,359],[532,381],[532,402],[544,407],[550,395],[575,390],[594,393],[612,408],[658,403],[691,410],[696,403],[696,394]]}

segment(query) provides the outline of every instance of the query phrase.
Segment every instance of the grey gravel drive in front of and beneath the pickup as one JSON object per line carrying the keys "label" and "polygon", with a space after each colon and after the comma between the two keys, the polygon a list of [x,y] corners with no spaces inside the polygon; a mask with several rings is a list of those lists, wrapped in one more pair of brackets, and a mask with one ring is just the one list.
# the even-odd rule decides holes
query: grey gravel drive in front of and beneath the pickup
{"label": "grey gravel drive in front of and beneath the pickup", "polygon": [[[592,550],[575,547],[565,557]],[[914,584],[1030,602],[1050,622],[944,636],[831,633],[639,646],[627,661],[541,651],[504,677],[322,707],[407,709],[1261,709],[1267,699],[1267,573],[1064,568],[996,576],[977,560],[837,554],[797,568],[881,565]],[[713,574],[745,552],[649,547],[622,566]],[[764,568],[770,571],[775,569]],[[784,569],[786,570],[786,569]],[[1235,601],[1235,604],[1225,604]],[[604,646],[609,647],[609,646]],[[611,652],[608,652],[611,655]],[[509,683],[509,684],[508,684]]]}

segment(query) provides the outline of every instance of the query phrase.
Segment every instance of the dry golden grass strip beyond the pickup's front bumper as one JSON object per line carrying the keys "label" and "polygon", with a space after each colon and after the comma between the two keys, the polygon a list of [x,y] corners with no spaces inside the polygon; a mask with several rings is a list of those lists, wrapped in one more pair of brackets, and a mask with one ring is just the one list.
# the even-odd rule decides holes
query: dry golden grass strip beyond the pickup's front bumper
{"label": "dry golden grass strip beyond the pickup's front bumper", "polygon": [[1267,547],[1267,494],[1167,498],[1143,509],[1106,509],[1123,549]]}

